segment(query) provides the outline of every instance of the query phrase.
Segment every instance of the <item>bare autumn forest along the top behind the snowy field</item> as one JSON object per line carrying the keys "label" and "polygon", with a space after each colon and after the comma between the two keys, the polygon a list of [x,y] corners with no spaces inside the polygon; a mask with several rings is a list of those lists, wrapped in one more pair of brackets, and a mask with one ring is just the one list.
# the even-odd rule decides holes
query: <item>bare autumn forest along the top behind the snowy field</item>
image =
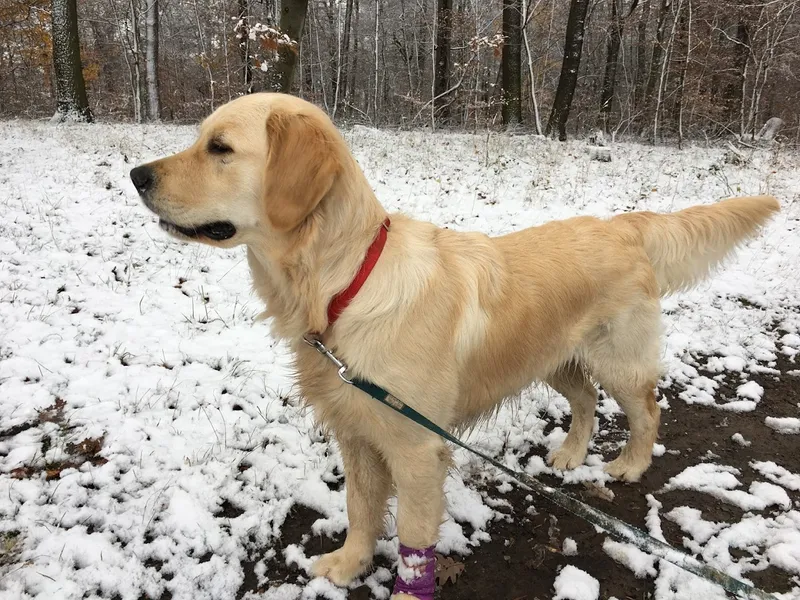
{"label": "bare autumn forest along the top behind the snowy field", "polygon": [[798,0],[2,0],[0,116],[192,122],[257,91],[339,124],[800,138]]}

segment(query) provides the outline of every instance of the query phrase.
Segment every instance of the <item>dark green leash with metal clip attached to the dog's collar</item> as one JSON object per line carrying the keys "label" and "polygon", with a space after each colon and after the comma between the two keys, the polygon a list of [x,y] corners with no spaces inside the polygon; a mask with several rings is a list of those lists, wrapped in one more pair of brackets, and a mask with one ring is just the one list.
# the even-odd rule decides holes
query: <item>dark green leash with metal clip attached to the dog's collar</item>
{"label": "dark green leash with metal clip attached to the dog's collar", "polygon": [[532,491],[539,496],[551,501],[553,504],[560,506],[561,508],[571,512],[576,517],[583,519],[584,521],[600,527],[601,529],[605,530],[609,535],[616,538],[622,542],[628,542],[657,558],[665,560],[677,567],[680,567],[684,571],[688,571],[702,579],[715,583],[719,586],[722,586],[725,591],[734,594],[739,598],[755,598],[757,600],[777,600],[777,598],[772,595],[768,594],[756,587],[753,587],[743,581],[739,581],[735,577],[731,577],[730,575],[723,573],[719,569],[715,569],[710,567],[693,556],[683,552],[682,550],[678,550],[673,548],[669,544],[658,540],[645,531],[639,529],[638,527],[634,527],[633,525],[628,525],[624,521],[621,521],[611,515],[607,515],[606,513],[597,510],[596,508],[581,502],[570,496],[569,494],[565,494],[549,485],[545,485],[542,482],[538,481],[537,479],[531,477],[527,473],[522,473],[520,471],[515,471],[511,469],[501,462],[495,460],[491,456],[488,456],[481,452],[480,450],[476,450],[475,448],[469,446],[468,444],[462,442],[460,439],[452,435],[450,432],[445,431],[441,427],[439,427],[436,423],[428,419],[425,415],[420,414],[404,402],[401,402],[394,396],[392,396],[389,392],[387,392],[382,387],[375,385],[369,381],[365,381],[363,379],[355,378],[349,379],[347,377],[347,365],[339,360],[323,343],[321,340],[313,337],[306,336],[303,338],[304,341],[311,346],[312,348],[316,349],[320,354],[325,356],[328,360],[330,360],[334,365],[336,365],[339,373],[339,378],[344,381],[345,383],[352,385],[365,394],[368,394],[378,402],[388,406],[392,410],[399,412],[401,415],[408,417],[415,423],[421,425],[428,431],[435,433],[436,435],[444,438],[448,442],[452,442],[453,444],[464,448],[465,450],[475,454],[476,456],[481,457],[485,461],[487,461],[492,466],[496,467],[509,477],[513,477],[516,479],[523,487],[527,488],[529,491]]}

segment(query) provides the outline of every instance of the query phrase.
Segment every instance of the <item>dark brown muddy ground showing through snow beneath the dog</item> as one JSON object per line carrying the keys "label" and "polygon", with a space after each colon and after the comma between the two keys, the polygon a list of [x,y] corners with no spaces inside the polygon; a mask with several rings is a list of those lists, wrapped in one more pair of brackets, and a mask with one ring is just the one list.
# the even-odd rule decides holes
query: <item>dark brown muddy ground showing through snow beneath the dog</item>
{"label": "dark brown muddy ground showing through snow beneath the dog", "polygon": [[[661,514],[676,506],[688,505],[703,511],[703,518],[733,522],[743,516],[736,506],[716,501],[711,496],[695,491],[671,491],[659,494],[664,484],[686,467],[703,460],[731,465],[741,470],[740,481],[747,487],[757,473],[749,463],[753,460],[773,460],[794,473],[800,472],[800,446],[798,436],[781,435],[764,424],[767,416],[800,416],[800,377],[797,365],[781,357],[776,365],[780,375],[753,374],[752,380],[764,388],[764,396],[755,411],[733,413],[717,408],[687,405],[677,398],[680,386],[662,388],[661,394],[669,400],[670,408],[662,411],[661,442],[670,451],[655,458],[653,466],[637,484],[611,483],[614,492],[612,502],[596,497],[581,486],[568,486],[567,491],[576,494],[585,502],[607,511],[624,521],[645,528],[648,505],[647,494],[655,494],[664,506]],[[737,377],[726,377],[734,382],[720,387],[719,394],[727,398],[736,397]],[[605,421],[601,417],[600,430],[607,430],[599,438],[601,448],[615,447],[625,437],[627,424],[624,417]],[[731,440],[734,433],[741,433],[752,442],[742,447]],[[541,448],[539,450],[542,450]],[[677,451],[677,452],[675,452]],[[609,453],[610,455],[610,453]],[[608,458],[608,457],[607,457]],[[557,485],[555,478],[546,483]],[[600,581],[600,598],[616,597],[619,600],[652,598],[654,580],[637,579],[627,568],[619,565],[603,551],[604,534],[577,517],[566,513],[539,499],[534,500],[536,514],[529,514],[530,503],[527,492],[514,489],[505,498],[513,506],[508,510],[509,519],[496,520],[489,529],[492,540],[481,544],[471,556],[457,561],[464,564],[463,572],[453,583],[448,581],[437,589],[441,600],[545,600],[553,597],[553,581],[566,564],[582,569]],[[795,506],[800,503],[800,493],[789,492]],[[311,526],[321,515],[314,510],[298,506],[283,527],[282,544],[300,543],[303,536],[311,536],[305,544],[306,555],[328,552],[337,548],[342,537],[313,536]],[[512,518],[513,517],[513,518]],[[462,524],[465,528],[469,525]],[[680,547],[683,533],[668,519],[662,519],[667,540]],[[578,555],[564,556],[561,552],[563,540],[570,537],[577,542]],[[278,553],[280,557],[280,552]],[[255,557],[257,559],[257,557]],[[263,591],[257,585],[253,563],[245,566],[246,579],[240,595],[247,591]],[[385,559],[378,558],[377,565],[391,568]],[[287,568],[282,560],[268,563],[270,586],[283,582],[307,581],[304,573]],[[796,577],[771,567],[765,571],[750,573],[751,580],[769,592],[786,592],[798,585]],[[368,600],[373,596],[366,586],[349,594],[354,600]]]}

